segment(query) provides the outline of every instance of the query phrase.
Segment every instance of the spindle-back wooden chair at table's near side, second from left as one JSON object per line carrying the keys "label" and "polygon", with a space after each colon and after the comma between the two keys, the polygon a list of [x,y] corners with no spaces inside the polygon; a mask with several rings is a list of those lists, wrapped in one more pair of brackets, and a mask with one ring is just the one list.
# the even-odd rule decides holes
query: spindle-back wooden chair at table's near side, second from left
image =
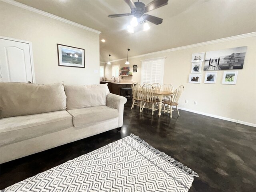
{"label": "spindle-back wooden chair at table's near side, second from left", "polygon": [[146,108],[152,109],[152,115],[154,115],[154,111],[158,110],[158,108],[154,108],[155,104],[159,102],[159,100],[156,99],[156,90],[154,86],[146,83],[142,86],[142,92],[144,96],[144,105],[142,107],[142,110],[144,109],[145,104],[147,104]]}

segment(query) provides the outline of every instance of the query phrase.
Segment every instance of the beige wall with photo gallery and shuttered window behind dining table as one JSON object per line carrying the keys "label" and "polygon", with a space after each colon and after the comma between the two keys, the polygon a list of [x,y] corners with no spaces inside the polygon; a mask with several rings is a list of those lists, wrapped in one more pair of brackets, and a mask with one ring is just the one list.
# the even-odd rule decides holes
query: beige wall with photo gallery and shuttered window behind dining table
{"label": "beige wall with photo gallery and shuttered window behind dining table", "polygon": [[[191,71],[192,53],[223,50],[247,46],[244,68],[238,70],[236,85],[221,84],[223,71],[218,71],[216,84],[204,84],[205,71],[202,68],[200,84],[188,83]],[[138,65],[138,72],[133,73],[132,80],[140,82],[141,61],[149,58],[166,56],[164,65],[164,83],[176,88],[184,85],[185,90],[180,98],[179,106],[188,110],[212,114],[234,120],[256,124],[256,37],[243,38],[198,46],[184,50],[155,54],[140,58],[129,58],[130,67]],[[124,65],[125,60],[111,62],[112,65]],[[110,68],[106,68],[110,70]],[[108,71],[105,73],[109,74]],[[107,76],[109,78],[109,76]],[[188,99],[189,103],[185,103]],[[194,105],[194,101],[198,104]]]}

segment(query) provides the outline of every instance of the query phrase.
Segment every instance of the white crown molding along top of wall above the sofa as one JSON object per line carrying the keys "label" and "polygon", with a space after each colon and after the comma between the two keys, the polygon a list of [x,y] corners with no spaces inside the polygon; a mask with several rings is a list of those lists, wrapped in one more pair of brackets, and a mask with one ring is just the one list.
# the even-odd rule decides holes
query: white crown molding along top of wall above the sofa
{"label": "white crown molding along top of wall above the sofa", "polygon": [[72,21],[70,21],[70,20],[61,18],[61,17],[59,17],[59,16],[56,16],[56,15],[53,15],[53,14],[44,12],[44,11],[42,11],[42,10],[39,10],[39,9],[30,7],[30,6],[27,6],[27,5],[25,5],[25,4],[16,2],[16,1],[14,1],[14,0],[1,0],[1,1],[2,1],[2,2],[5,2],[5,3],[8,3],[8,4],[11,4],[11,5],[14,5],[14,6],[17,6],[17,7],[22,8],[22,9],[29,10],[29,11],[34,12],[34,13],[38,13],[38,14],[43,15],[43,16],[46,16],[46,17],[50,17],[50,18],[52,18],[52,19],[55,19],[55,20],[58,20],[58,21],[61,21],[61,22],[64,22],[64,23],[67,23],[67,24],[70,24],[70,25],[73,25],[73,26],[76,26],[76,27],[79,27],[79,28],[82,28],[82,29],[85,29],[85,30],[94,32],[94,33],[96,33],[96,34],[100,34],[100,33],[101,33],[101,32],[98,31],[98,30],[95,30],[95,29],[86,27],[86,26],[81,25],[81,24],[78,24],[78,23],[76,23],[76,22],[72,22]]}

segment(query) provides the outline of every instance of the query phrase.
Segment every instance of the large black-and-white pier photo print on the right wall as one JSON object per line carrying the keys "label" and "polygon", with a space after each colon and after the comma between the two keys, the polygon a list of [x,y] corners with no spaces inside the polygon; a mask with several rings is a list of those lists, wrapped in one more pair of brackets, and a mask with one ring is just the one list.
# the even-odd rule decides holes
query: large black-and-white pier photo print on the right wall
{"label": "large black-and-white pier photo print on the right wall", "polygon": [[246,48],[244,46],[206,52],[204,71],[242,69]]}

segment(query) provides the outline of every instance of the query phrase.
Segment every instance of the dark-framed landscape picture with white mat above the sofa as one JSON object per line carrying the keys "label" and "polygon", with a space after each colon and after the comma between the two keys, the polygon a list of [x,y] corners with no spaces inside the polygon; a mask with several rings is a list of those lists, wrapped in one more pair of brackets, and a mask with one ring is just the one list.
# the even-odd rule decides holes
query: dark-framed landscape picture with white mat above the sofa
{"label": "dark-framed landscape picture with white mat above the sofa", "polygon": [[57,44],[58,65],[85,68],[84,49]]}

